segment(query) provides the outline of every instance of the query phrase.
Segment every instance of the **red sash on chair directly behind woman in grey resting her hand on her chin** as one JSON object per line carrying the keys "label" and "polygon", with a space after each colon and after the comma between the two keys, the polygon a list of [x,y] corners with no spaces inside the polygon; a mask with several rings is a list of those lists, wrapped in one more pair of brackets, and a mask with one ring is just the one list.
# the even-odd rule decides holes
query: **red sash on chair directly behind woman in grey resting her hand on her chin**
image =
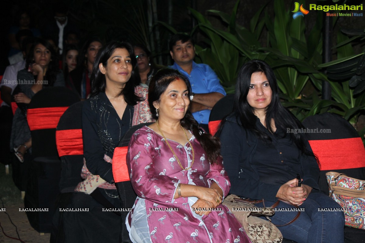
{"label": "red sash on chair directly behind woman in grey resting her hand on her chin", "polygon": [[31,131],[56,128],[65,107],[46,107],[27,110],[27,121]]}

